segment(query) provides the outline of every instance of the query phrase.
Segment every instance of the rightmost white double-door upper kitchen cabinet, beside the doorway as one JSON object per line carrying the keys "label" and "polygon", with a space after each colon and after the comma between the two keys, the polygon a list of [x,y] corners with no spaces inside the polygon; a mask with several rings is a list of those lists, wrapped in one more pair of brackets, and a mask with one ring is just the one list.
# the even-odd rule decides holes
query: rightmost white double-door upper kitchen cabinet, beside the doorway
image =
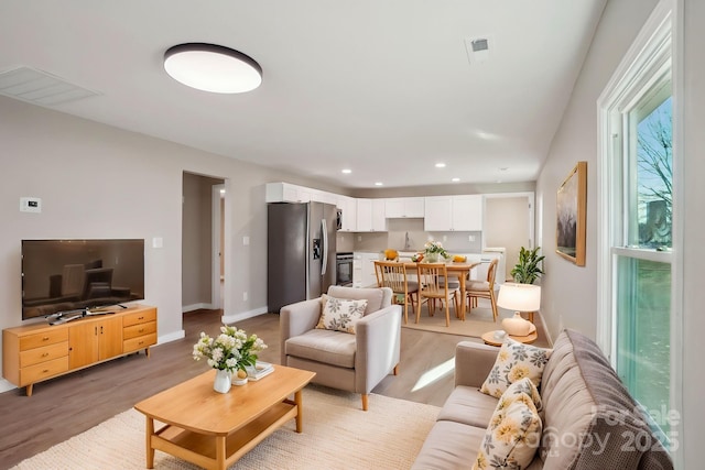
{"label": "rightmost white double-door upper kitchen cabinet, beside the doorway", "polygon": [[425,198],[425,231],[481,231],[482,195]]}

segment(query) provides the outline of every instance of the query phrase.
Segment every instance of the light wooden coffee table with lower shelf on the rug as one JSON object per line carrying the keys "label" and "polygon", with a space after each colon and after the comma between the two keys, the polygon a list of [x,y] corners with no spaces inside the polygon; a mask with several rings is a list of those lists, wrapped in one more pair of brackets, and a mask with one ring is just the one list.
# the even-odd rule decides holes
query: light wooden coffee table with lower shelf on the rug
{"label": "light wooden coffee table with lower shelf on the rug", "polygon": [[[213,390],[215,374],[210,370],[134,405],[147,416],[147,468],[154,468],[154,450],[162,450],[225,470],[290,419],[302,431],[302,389],[314,372],[274,365],[267,378],[228,393]],[[155,429],[155,420],[165,426]]]}

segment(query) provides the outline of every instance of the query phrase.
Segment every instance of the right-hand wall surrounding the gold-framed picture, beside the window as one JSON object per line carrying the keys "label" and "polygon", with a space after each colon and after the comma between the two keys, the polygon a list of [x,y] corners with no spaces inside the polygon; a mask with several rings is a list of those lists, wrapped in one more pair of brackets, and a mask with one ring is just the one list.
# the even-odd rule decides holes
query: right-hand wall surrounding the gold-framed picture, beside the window
{"label": "right-hand wall surrounding the gold-framed picture, beside the window", "polygon": [[[573,328],[595,338],[597,328],[597,98],[641,30],[657,0],[609,1],[546,162],[536,182],[538,242],[546,256],[541,314],[555,338]],[[555,253],[556,190],[578,161],[587,161],[587,256],[584,267]],[[579,298],[581,302],[575,302]]]}

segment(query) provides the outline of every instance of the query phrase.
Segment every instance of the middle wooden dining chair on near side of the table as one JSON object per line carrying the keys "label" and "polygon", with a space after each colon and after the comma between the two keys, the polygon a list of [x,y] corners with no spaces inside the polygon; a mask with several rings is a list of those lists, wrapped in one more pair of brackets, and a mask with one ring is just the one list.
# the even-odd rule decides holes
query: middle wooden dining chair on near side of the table
{"label": "middle wooden dining chair on near side of the table", "polygon": [[460,308],[460,296],[458,287],[449,282],[445,282],[448,278],[448,272],[445,263],[416,263],[416,278],[419,280],[419,298],[416,302],[416,323],[421,319],[421,304],[426,298],[429,306],[429,315],[433,316],[435,309],[435,300],[443,300],[445,305],[445,326],[451,326],[451,310],[449,304],[453,299],[453,306],[455,307],[456,316]]}

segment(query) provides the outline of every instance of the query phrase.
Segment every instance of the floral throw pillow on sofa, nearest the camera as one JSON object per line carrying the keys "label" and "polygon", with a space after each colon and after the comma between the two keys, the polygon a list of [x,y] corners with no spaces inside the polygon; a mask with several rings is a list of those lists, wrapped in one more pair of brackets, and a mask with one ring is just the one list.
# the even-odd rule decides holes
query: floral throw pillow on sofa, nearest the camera
{"label": "floral throw pillow on sofa, nearest the camera", "polygon": [[523,469],[536,453],[543,429],[536,406],[530,395],[512,387],[508,392],[497,403],[473,470]]}

